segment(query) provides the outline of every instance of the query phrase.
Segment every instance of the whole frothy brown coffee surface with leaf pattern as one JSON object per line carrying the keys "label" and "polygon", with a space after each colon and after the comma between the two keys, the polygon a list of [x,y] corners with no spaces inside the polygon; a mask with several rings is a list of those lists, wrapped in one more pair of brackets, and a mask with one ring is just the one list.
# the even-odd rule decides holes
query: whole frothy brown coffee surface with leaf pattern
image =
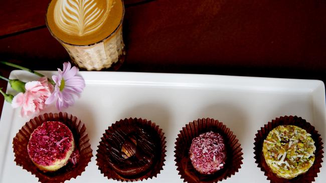
{"label": "whole frothy brown coffee surface with leaf pattern", "polygon": [[48,26],[62,41],[76,45],[98,42],[120,24],[121,0],[52,0]]}

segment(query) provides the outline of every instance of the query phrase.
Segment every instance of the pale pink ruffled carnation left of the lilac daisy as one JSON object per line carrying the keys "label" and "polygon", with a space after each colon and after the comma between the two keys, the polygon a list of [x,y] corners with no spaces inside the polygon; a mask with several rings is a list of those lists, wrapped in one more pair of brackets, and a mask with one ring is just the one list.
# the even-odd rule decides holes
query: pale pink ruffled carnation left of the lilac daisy
{"label": "pale pink ruffled carnation left of the lilac daisy", "polygon": [[25,93],[18,93],[12,101],[13,108],[22,107],[21,115],[30,116],[34,112],[40,112],[46,106],[45,101],[51,95],[52,84],[47,77],[41,77],[38,81],[30,81],[25,84]]}

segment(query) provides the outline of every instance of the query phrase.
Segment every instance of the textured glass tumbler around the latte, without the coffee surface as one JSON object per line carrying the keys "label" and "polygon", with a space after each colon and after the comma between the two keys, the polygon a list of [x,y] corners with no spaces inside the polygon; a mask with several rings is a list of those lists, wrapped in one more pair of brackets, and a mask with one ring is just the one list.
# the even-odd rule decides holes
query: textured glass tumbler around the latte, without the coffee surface
{"label": "textured glass tumbler around the latte, without the coffee surface", "polygon": [[[48,7],[49,10],[49,7]],[[47,10],[47,16],[48,16]],[[122,38],[122,21],[124,16],[124,7],[120,23],[113,32],[107,32],[108,35],[95,43],[78,45],[65,42],[60,39],[49,26],[48,17],[46,25],[50,33],[67,50],[72,61],[81,69],[86,70],[117,70],[124,61],[125,46]],[[80,37],[81,39],[84,37]]]}

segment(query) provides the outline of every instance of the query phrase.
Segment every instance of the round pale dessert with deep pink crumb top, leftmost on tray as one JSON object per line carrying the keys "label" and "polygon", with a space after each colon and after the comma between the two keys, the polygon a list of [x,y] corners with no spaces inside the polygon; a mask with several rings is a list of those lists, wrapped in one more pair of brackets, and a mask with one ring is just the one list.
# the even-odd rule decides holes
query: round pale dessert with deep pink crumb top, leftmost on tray
{"label": "round pale dessert with deep pink crumb top, leftmost on tray", "polygon": [[67,164],[74,145],[73,134],[64,123],[47,121],[33,131],[27,150],[38,168],[56,171]]}

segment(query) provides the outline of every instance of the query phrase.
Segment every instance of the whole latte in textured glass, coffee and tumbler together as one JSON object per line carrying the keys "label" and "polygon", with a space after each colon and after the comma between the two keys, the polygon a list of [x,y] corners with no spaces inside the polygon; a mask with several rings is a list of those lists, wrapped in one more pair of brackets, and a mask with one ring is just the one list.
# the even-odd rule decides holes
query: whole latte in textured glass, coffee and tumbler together
{"label": "whole latte in textured glass, coffee and tumbler together", "polygon": [[52,0],[46,25],[80,68],[116,70],[125,55],[123,16],[122,0]]}

